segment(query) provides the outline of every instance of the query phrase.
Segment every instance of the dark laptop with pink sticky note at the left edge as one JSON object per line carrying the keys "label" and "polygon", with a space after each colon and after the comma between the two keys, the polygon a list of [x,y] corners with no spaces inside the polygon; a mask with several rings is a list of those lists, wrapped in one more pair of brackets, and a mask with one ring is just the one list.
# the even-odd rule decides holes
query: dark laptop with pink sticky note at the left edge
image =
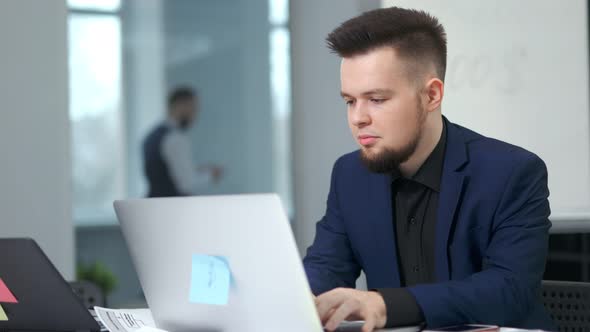
{"label": "dark laptop with pink sticky note at the left edge", "polygon": [[100,330],[34,240],[0,239],[0,279],[0,331]]}

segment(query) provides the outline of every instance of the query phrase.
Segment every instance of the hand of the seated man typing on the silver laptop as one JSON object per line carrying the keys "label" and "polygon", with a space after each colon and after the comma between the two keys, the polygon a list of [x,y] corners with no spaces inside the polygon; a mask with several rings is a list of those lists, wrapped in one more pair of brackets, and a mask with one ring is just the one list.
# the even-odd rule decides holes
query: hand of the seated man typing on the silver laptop
{"label": "hand of the seated man typing on the silver laptop", "polygon": [[387,321],[381,294],[352,288],[336,288],[315,298],[318,314],[328,331],[334,331],[343,320],[364,320],[363,332],[382,328]]}

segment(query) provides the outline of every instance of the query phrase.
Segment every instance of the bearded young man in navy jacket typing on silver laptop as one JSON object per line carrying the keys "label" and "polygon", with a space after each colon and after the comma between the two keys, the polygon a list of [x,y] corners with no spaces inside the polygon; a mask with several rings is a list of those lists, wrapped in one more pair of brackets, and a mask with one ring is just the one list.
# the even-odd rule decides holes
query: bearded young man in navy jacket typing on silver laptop
{"label": "bearded young man in navy jacket typing on silver laptop", "polygon": [[[442,25],[422,11],[378,9],[327,41],[342,57],[341,94],[360,150],[335,163],[304,258],[326,328],[363,319],[365,331],[554,329],[538,296],[551,226],[546,167],[441,115]],[[351,288],[361,269],[370,291]]]}

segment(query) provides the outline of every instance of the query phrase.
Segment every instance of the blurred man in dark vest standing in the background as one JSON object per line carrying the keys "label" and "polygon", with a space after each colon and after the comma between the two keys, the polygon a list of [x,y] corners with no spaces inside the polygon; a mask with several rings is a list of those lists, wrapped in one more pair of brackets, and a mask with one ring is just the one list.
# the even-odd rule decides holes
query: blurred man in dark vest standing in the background
{"label": "blurred man in dark vest standing in the background", "polygon": [[219,181],[221,168],[195,167],[189,129],[198,115],[198,97],[190,87],[168,96],[168,116],[143,141],[148,197],[190,196]]}

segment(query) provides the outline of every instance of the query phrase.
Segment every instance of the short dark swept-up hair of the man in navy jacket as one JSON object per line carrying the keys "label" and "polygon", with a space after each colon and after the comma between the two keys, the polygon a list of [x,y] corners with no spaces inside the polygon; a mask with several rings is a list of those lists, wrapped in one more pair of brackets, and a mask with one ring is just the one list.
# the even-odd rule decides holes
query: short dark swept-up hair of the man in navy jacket
{"label": "short dark swept-up hair of the man in navy jacket", "polygon": [[436,17],[415,9],[381,8],[365,12],[334,29],[326,38],[328,47],[343,58],[391,46],[418,70],[432,63],[444,81],[447,66],[447,36]]}

